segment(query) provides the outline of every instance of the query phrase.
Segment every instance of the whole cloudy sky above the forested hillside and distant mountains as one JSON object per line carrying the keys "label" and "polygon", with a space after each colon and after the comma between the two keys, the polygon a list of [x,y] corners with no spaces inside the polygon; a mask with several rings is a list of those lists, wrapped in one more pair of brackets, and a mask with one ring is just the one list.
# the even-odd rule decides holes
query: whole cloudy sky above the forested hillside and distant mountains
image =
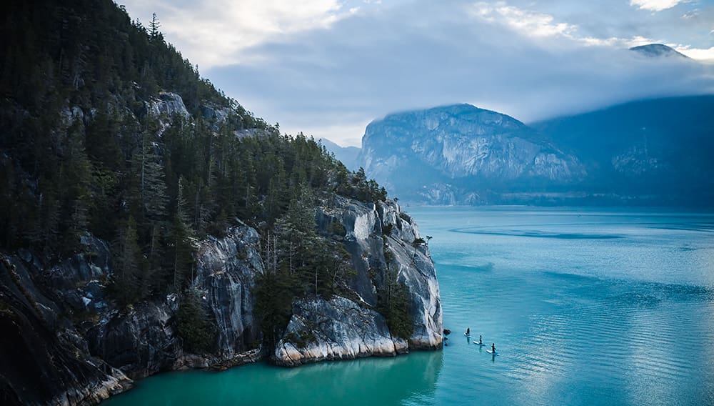
{"label": "whole cloudy sky above the forested hillside and distant mountains", "polygon": [[[390,112],[470,103],[523,122],[714,93],[714,0],[117,0],[282,132],[356,145]],[[668,44],[651,59],[628,47]]]}

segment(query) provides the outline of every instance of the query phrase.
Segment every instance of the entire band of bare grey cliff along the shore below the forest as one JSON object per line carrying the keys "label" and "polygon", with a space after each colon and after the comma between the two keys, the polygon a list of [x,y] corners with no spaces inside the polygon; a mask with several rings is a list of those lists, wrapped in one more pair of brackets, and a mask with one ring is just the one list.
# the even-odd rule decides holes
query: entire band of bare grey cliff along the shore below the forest
{"label": "entire band of bare grey cliff along the shore below the forest", "polygon": [[[426,244],[413,244],[421,238],[413,220],[393,202],[343,197],[318,207],[316,219],[319,227],[338,222],[346,230],[343,242],[356,269],[350,298],[295,302],[282,339],[274,350],[266,349],[271,358],[296,366],[440,348],[436,272]],[[232,227],[225,237],[196,245],[191,292],[216,327],[212,350],[199,354],[188,352],[176,331],[175,294],[116,307],[106,294],[109,245],[89,234],[82,244],[81,252],[54,265],[26,250],[2,257],[4,404],[93,404],[131,387],[130,377],[224,369],[263,357],[254,288],[264,264],[255,229]],[[393,335],[377,311],[389,269],[408,290],[411,337]]]}

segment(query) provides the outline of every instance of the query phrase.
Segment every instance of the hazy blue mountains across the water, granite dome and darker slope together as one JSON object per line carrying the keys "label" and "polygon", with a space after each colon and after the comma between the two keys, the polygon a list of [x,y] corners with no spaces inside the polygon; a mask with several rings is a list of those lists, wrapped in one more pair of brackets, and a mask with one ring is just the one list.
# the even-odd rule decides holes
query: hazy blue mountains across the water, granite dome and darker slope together
{"label": "hazy blue mountains across the water, granite dome and darker slope together", "polygon": [[714,96],[633,101],[528,126],[469,104],[389,114],[358,165],[416,204],[714,207]]}

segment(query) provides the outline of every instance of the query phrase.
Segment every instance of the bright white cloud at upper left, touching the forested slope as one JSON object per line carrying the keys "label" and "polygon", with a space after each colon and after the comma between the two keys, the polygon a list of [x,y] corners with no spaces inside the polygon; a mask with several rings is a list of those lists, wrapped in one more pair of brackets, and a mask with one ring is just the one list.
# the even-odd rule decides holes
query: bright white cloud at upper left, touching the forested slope
{"label": "bright white cloud at upper left, touching the forested slope", "polygon": [[246,63],[246,49],[301,31],[328,29],[358,11],[357,7],[346,9],[338,0],[122,2],[132,16],[143,16],[144,24],[156,12],[166,38],[204,69]]}

